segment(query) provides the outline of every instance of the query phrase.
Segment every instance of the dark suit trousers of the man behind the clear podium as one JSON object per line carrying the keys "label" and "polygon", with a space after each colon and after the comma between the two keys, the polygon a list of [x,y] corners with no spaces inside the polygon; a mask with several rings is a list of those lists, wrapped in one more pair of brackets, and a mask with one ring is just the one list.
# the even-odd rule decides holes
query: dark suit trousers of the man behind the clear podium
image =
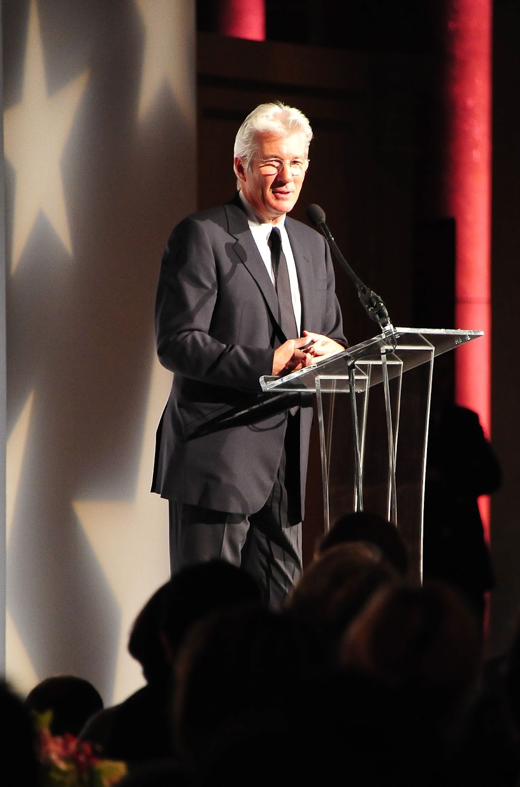
{"label": "dark suit trousers of the man behind the clear podium", "polygon": [[303,568],[299,464],[298,411],[288,414],[277,478],[258,512],[236,514],[169,501],[172,575],[192,563],[227,560],[252,575],[266,605],[279,609]]}

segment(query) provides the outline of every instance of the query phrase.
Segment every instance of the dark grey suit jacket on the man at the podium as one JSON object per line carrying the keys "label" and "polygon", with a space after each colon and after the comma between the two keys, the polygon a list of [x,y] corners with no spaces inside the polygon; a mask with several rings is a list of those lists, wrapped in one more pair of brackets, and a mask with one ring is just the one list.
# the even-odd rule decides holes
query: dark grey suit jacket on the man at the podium
{"label": "dark grey suit jacket on the man at the podium", "polygon": [[[346,343],[325,238],[289,216],[285,227],[302,329]],[[312,394],[262,392],[259,378],[271,374],[274,349],[286,337],[238,198],[174,228],[155,321],[158,357],[173,371],[173,386],[158,427],[152,491],[217,511],[257,512],[276,478],[288,406],[298,397],[303,514]]]}

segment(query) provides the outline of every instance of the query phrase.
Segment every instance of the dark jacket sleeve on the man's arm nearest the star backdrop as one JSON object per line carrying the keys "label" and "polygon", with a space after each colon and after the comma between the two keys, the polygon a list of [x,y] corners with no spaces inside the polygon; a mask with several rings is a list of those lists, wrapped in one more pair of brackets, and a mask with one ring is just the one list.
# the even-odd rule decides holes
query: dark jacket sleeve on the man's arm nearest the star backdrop
{"label": "dark jacket sleeve on the man's arm nearest the star backdrop", "polygon": [[162,257],[155,301],[158,358],[165,368],[217,386],[260,390],[273,368],[274,350],[225,344],[212,335],[219,294],[217,251],[204,224],[185,219]]}

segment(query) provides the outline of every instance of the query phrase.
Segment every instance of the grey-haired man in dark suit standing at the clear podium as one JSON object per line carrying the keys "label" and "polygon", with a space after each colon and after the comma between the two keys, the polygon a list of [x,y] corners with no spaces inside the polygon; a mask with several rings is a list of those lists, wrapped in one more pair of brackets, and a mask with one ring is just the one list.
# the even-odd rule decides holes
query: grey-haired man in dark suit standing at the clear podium
{"label": "grey-haired man in dark suit standing at the clear podium", "polygon": [[238,194],[174,228],[156,299],[158,357],[173,386],[152,491],[169,501],[172,572],[224,558],[273,608],[302,570],[312,396],[263,393],[259,379],[346,345],[329,246],[287,216],[311,139],[298,109],[277,102],[247,116],[235,141]]}

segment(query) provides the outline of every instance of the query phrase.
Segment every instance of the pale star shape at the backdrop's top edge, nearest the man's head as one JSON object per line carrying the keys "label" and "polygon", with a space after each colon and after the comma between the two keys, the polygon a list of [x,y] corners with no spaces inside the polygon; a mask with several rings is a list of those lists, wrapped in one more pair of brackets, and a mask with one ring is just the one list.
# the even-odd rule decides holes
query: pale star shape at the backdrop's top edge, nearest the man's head
{"label": "pale star shape at the backdrop's top edge, nearest the man's head", "polygon": [[195,81],[190,87],[189,75],[195,57],[195,31],[192,52],[185,39],[179,42],[179,46],[176,46],[175,39],[177,31],[186,29],[180,20],[189,13],[189,4],[172,0],[136,0],[136,5],[146,28],[139,119],[143,119],[165,83],[171,88],[184,117],[191,118],[195,106]]}

